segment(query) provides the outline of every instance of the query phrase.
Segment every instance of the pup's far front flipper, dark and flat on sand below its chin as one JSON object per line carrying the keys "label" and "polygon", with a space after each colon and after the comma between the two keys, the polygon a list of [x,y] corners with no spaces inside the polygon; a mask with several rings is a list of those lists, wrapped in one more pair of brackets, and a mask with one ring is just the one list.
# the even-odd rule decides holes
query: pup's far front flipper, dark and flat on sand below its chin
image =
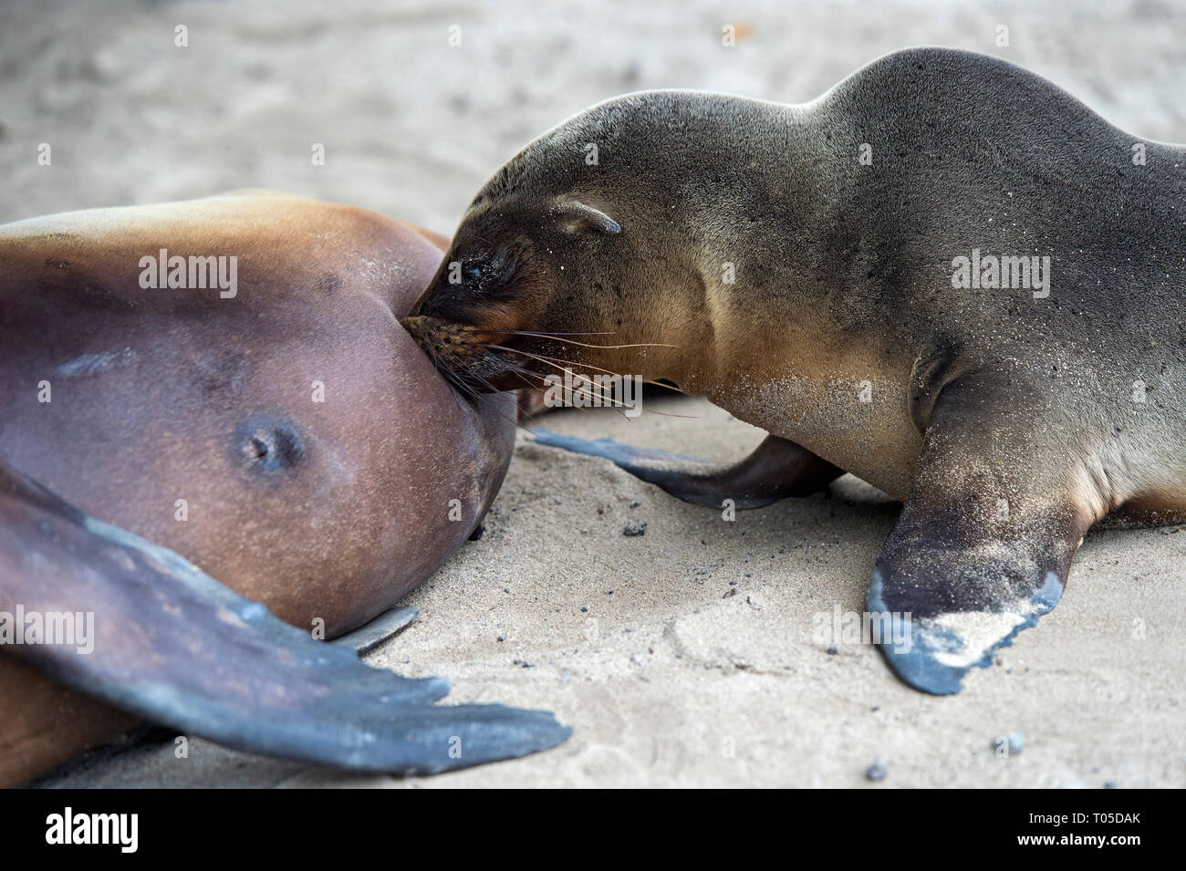
{"label": "pup's far front flipper, dark and flat on sand below its chin", "polygon": [[[719,508],[732,499],[737,508],[760,508],[786,497],[805,497],[843,474],[795,442],[769,435],[740,462],[715,466],[681,454],[645,450],[608,438],[579,438],[534,430],[540,444],[600,456],[636,478],[694,505]],[[699,468],[697,468],[699,467]]]}

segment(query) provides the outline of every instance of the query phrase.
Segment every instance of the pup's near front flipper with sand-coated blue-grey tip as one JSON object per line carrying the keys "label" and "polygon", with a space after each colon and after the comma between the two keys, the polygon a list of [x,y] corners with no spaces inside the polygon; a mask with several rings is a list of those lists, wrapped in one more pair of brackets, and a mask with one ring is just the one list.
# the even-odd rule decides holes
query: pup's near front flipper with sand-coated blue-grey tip
{"label": "pup's near front flipper with sand-coated blue-grey tip", "polygon": [[936,402],[867,600],[874,640],[918,690],[958,692],[969,668],[1053,608],[1103,513],[1075,416],[1050,408],[997,373],[956,380]]}

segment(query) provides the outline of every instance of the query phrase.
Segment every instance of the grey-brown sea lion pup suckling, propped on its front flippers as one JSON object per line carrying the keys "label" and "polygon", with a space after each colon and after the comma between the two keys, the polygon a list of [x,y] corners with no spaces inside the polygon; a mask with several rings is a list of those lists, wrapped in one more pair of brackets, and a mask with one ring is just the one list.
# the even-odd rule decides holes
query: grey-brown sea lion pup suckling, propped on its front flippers
{"label": "grey-brown sea lion pup suckling, propped on its front flippers", "polygon": [[844,470],[903,500],[868,609],[907,641],[882,639],[894,671],[951,693],[1058,602],[1092,524],[1186,518],[1184,203],[1182,146],[908,50],[803,105],[580,113],[478,193],[406,324],[478,391],[573,361],[770,433],[695,474],[550,440],[681,498],[753,507]]}

